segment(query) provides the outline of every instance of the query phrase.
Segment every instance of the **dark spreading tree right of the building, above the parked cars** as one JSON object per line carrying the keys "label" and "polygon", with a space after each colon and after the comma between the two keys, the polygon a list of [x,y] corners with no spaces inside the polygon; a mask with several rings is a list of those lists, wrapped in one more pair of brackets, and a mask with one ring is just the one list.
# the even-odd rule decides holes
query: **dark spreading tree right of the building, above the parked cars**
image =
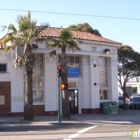
{"label": "dark spreading tree right of the building, above the parked cars", "polygon": [[140,76],[140,53],[135,52],[130,46],[120,46],[118,48],[118,82],[123,91],[124,109],[126,109],[126,83],[137,76]]}

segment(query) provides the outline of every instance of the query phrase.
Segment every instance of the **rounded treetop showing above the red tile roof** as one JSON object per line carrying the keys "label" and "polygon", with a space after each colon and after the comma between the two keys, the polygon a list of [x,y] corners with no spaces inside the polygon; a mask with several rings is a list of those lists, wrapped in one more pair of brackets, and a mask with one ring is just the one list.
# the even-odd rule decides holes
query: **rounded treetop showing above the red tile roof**
{"label": "rounded treetop showing above the red tile roof", "polygon": [[88,32],[91,34],[102,36],[97,29],[93,29],[88,23],[70,25],[68,29],[71,31],[82,31],[82,32]]}

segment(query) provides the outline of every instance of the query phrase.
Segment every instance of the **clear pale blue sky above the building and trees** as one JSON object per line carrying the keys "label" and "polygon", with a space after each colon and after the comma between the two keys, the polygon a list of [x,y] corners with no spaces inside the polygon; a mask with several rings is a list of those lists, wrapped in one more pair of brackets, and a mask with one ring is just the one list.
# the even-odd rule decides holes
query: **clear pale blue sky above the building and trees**
{"label": "clear pale blue sky above the building and trees", "polygon": [[[32,12],[32,18],[38,21],[38,25],[49,22],[51,27],[65,28],[72,24],[87,22],[93,29],[98,29],[103,37],[129,45],[140,52],[140,0],[0,0],[0,26],[9,23],[16,25],[17,15],[27,13],[2,9],[44,11],[46,13]],[[3,35],[4,33],[0,32],[0,38]]]}

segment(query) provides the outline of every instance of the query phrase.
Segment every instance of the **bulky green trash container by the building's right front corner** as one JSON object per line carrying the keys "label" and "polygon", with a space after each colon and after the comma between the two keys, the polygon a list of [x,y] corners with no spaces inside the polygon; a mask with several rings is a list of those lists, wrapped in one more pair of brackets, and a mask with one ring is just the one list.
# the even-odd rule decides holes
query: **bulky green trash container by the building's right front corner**
{"label": "bulky green trash container by the building's right front corner", "polygon": [[102,103],[102,114],[118,114],[119,105],[117,102]]}

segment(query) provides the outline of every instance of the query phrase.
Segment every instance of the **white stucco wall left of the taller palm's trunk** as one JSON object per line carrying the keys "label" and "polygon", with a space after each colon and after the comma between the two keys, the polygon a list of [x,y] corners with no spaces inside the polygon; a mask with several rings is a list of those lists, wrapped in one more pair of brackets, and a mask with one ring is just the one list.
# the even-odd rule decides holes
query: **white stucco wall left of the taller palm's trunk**
{"label": "white stucco wall left of the taller palm's trunk", "polygon": [[23,112],[23,70],[18,68],[13,69],[15,53],[8,51],[5,54],[0,51],[0,63],[7,64],[7,72],[0,73],[0,81],[11,82],[11,112]]}

